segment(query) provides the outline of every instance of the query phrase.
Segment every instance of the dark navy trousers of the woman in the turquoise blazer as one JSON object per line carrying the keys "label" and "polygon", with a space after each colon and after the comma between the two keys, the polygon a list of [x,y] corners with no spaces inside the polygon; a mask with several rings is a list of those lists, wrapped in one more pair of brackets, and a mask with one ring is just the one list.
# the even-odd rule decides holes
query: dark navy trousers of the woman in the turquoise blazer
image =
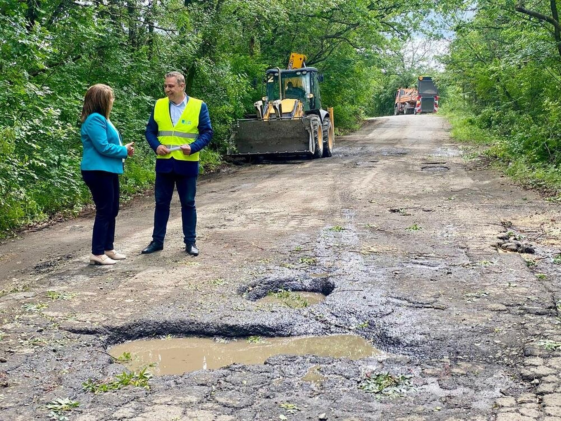
{"label": "dark navy trousers of the woman in the turquoise blazer", "polygon": [[107,171],[82,171],[82,179],[95,203],[91,253],[103,254],[105,250],[113,250],[115,217],[119,213],[119,176]]}

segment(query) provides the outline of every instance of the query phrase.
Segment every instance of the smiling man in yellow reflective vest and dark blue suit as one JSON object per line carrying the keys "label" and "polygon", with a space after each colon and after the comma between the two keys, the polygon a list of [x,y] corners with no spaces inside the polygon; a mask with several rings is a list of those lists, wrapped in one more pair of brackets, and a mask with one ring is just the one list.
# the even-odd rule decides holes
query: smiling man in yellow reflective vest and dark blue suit
{"label": "smiling man in yellow reflective vest and dark blue suit", "polygon": [[145,132],[146,140],[157,155],[156,206],[152,241],[142,253],[154,253],[164,248],[169,204],[177,186],[185,251],[196,256],[199,254],[195,244],[199,151],[209,144],[213,130],[206,104],[185,94],[185,77],[180,72],[165,75],[164,91],[167,97],[156,101]]}

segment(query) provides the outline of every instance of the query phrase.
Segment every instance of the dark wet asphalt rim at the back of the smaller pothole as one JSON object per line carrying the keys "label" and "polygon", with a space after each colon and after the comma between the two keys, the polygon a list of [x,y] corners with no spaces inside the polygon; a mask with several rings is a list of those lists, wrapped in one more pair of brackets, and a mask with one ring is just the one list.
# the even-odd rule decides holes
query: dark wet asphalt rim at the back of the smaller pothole
{"label": "dark wet asphalt rim at the back of the smaller pothole", "polygon": [[263,298],[269,292],[286,290],[292,292],[318,292],[328,296],[335,289],[335,283],[329,277],[279,277],[263,278],[251,285],[241,287],[238,292],[248,300],[255,301]]}

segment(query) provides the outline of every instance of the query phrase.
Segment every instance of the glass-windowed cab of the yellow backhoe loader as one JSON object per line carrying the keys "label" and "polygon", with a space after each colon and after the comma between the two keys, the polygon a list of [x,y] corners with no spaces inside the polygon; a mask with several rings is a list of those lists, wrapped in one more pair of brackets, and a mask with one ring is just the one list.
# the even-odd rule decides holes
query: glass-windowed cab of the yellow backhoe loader
{"label": "glass-windowed cab of the yellow backhoe loader", "polygon": [[302,67],[295,70],[272,68],[266,71],[266,96],[269,101],[277,99],[298,99],[304,111],[321,108],[318,69]]}

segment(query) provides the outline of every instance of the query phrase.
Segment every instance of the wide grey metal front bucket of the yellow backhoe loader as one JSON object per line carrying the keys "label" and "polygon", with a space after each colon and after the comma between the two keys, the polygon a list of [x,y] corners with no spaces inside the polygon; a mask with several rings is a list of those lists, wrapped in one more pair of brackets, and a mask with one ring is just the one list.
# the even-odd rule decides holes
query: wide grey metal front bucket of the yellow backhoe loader
{"label": "wide grey metal front bucket of the yellow backhoe loader", "polygon": [[230,155],[314,153],[310,120],[238,120]]}

